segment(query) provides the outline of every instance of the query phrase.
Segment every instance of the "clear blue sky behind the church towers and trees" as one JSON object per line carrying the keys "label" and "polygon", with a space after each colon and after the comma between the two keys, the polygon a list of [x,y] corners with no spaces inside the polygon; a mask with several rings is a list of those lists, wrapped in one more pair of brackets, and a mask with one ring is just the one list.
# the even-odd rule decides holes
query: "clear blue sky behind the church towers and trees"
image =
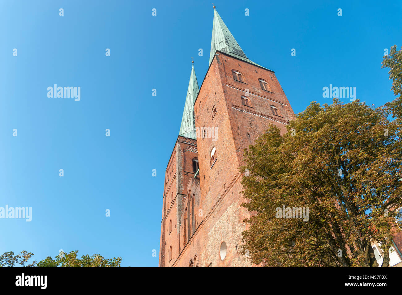
{"label": "clear blue sky behind the church towers and trees", "polygon": [[[215,5],[247,57],[275,71],[296,113],[331,103],[329,84],[356,87],[375,106],[394,99],[381,60],[402,45],[400,2]],[[191,57],[200,84],[208,69],[212,20],[209,1],[0,2],[0,207],[32,207],[31,222],[0,219],[1,253],[28,250],[39,261],[78,249],[158,265],[164,169]],[[80,101],[48,98],[53,84],[80,87]]]}

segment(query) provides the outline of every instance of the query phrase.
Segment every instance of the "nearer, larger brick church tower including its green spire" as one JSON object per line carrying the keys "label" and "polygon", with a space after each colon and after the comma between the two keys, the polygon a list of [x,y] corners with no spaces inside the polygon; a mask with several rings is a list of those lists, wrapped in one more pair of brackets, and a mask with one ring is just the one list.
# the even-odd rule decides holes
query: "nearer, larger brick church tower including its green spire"
{"label": "nearer, larger brick church tower including its green spire", "polygon": [[[285,133],[295,114],[275,72],[248,59],[216,10],[209,69],[193,108],[199,170],[183,179],[187,192],[181,192],[183,209],[193,215],[181,215],[178,252],[166,266],[252,266],[239,253],[250,217],[241,207],[244,149],[269,124]],[[189,122],[184,114],[183,120]]]}

